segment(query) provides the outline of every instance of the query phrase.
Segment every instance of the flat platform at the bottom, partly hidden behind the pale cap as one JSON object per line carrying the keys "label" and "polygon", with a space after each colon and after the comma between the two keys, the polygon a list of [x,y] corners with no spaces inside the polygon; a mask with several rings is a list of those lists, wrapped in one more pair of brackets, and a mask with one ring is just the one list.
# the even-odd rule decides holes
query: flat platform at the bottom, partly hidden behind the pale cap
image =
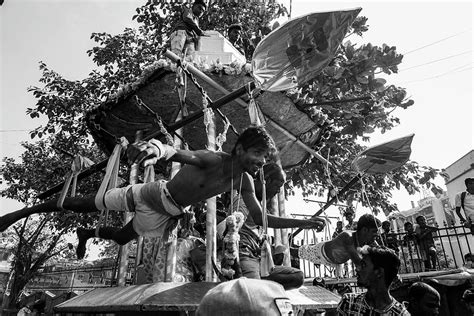
{"label": "flat platform at the bottom, partly hidden behind the pale cap", "polygon": [[[55,307],[58,313],[148,313],[195,311],[202,297],[219,283],[168,283],[97,288]],[[298,311],[335,308],[340,296],[318,286],[287,291]]]}

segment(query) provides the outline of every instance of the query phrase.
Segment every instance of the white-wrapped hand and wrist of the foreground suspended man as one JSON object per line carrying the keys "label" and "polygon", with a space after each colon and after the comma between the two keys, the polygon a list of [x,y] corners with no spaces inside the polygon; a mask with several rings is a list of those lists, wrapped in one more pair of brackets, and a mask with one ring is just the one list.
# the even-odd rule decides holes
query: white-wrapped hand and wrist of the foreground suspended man
{"label": "white-wrapped hand and wrist of the foreground suspended man", "polygon": [[139,141],[127,147],[127,159],[129,164],[143,162],[143,166],[154,165],[158,160],[170,159],[176,154],[173,146],[163,144],[159,140]]}

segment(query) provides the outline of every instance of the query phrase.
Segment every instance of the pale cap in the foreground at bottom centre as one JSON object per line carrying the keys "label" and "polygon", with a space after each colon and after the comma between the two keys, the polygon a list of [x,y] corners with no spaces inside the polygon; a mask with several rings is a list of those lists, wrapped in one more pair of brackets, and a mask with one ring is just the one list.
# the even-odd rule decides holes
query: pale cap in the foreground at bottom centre
{"label": "pale cap in the foreground at bottom centre", "polygon": [[244,277],[223,282],[204,295],[196,316],[215,315],[293,315],[293,308],[280,284]]}

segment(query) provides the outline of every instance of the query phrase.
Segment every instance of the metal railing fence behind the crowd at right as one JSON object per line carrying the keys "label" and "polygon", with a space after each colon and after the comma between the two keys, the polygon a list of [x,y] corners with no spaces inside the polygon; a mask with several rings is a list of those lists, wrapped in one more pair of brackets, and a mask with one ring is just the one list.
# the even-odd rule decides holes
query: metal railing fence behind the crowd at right
{"label": "metal railing fence behind the crowd at right", "polygon": [[[432,247],[426,241],[420,240],[417,235],[408,234],[405,231],[391,231],[389,234],[391,237],[389,239],[393,242],[385,246],[397,252],[401,262],[401,274],[460,268],[466,264],[464,256],[474,251],[474,228],[471,231],[464,226],[444,223],[432,234],[434,241]],[[299,244],[314,244],[328,240],[330,238],[321,237],[321,233],[309,231],[303,234]],[[381,235],[379,235],[378,243],[383,243]],[[433,255],[433,260],[430,255]],[[434,261],[434,266],[431,261]],[[308,260],[299,260],[298,263],[306,278],[340,279],[356,275],[351,261],[338,266],[319,265]]]}

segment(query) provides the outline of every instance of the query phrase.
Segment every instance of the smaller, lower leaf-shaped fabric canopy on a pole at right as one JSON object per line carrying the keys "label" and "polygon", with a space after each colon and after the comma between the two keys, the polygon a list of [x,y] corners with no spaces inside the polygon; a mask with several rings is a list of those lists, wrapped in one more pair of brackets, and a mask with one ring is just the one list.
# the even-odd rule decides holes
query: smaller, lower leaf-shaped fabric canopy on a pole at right
{"label": "smaller, lower leaf-shaped fabric canopy on a pole at right", "polygon": [[352,169],[358,173],[387,173],[408,161],[411,142],[415,134],[369,147],[352,161]]}

